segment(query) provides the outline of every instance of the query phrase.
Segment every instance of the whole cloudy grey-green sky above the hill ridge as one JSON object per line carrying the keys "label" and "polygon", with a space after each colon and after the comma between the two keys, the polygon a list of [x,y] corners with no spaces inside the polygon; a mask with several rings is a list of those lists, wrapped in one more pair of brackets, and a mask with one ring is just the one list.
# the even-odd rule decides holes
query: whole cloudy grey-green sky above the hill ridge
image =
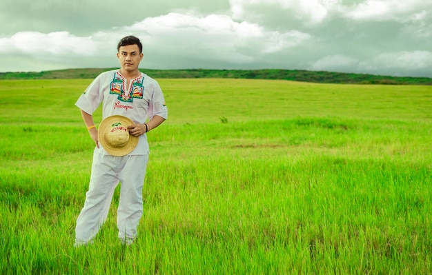
{"label": "whole cloudy grey-green sky above the hill ridge", "polygon": [[0,72],[119,66],[432,77],[432,0],[2,0]]}

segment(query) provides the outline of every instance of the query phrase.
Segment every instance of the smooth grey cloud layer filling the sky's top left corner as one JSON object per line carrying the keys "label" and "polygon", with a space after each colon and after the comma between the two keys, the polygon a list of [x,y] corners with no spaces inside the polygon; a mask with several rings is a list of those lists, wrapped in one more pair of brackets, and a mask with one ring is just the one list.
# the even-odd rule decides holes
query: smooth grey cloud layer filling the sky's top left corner
{"label": "smooth grey cloud layer filling the sky's top left corner", "polygon": [[129,26],[146,17],[176,10],[199,10],[204,14],[227,10],[225,1],[197,0],[2,0],[0,34],[21,31],[62,32],[88,36],[98,30]]}

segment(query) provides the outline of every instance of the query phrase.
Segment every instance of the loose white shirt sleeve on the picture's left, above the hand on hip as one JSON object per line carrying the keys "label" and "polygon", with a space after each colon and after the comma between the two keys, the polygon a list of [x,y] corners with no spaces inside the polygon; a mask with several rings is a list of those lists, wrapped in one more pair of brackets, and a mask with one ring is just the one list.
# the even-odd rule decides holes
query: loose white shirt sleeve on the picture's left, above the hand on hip
{"label": "loose white shirt sleeve on the picture's left, above the hand on hip", "polygon": [[101,89],[101,75],[99,75],[86,88],[84,94],[79,96],[75,105],[87,114],[93,114],[103,100],[104,92]]}

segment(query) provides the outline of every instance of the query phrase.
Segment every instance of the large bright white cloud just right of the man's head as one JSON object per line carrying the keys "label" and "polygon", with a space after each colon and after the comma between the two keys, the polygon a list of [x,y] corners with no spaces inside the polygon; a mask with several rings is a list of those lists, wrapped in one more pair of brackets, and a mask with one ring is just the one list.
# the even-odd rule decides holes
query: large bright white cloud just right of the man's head
{"label": "large bright white cloud just right of the man's head", "polygon": [[177,50],[193,58],[199,54],[202,60],[230,63],[251,63],[265,54],[304,43],[310,37],[295,30],[266,30],[255,23],[233,21],[226,15],[200,17],[175,12],[144,19],[125,30],[144,34],[143,43],[150,52],[163,48],[165,52]]}

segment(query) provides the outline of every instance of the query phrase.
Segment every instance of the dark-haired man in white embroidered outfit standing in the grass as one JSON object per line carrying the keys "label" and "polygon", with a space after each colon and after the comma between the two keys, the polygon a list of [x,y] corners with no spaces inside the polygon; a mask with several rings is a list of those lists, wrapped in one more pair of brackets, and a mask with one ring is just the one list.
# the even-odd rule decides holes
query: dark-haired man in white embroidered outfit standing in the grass
{"label": "dark-haired man in white embroidered outfit standing in the grass", "polygon": [[[130,245],[137,238],[149,154],[146,132],[157,128],[168,116],[159,84],[138,69],[142,58],[142,44],[137,37],[121,39],[117,45],[117,59],[121,68],[99,74],[75,103],[96,145],[86,202],[77,218],[75,247],[92,243],[106,221],[112,194],[119,182],[119,238],[125,245]],[[131,137],[137,137],[138,142],[130,153],[114,156],[107,152],[112,150],[108,150],[108,147],[105,150],[104,143],[100,143],[104,135],[98,134],[92,118],[92,113],[100,103],[104,120],[109,116],[125,116],[128,121],[133,121],[132,125],[128,125],[127,132]]]}

